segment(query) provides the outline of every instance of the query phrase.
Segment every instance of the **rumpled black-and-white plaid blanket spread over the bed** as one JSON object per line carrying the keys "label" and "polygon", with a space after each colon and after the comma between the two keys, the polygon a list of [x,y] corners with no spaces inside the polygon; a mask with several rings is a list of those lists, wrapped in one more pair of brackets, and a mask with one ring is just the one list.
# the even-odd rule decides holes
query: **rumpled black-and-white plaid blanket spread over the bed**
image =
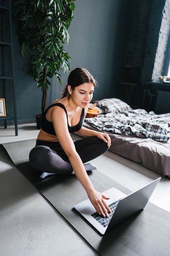
{"label": "rumpled black-and-white plaid blanket spread over the bed", "polygon": [[[108,113],[85,121],[97,130],[115,134],[150,138],[155,141],[168,141],[170,138],[170,113],[156,115],[144,109]],[[168,134],[169,133],[169,134]]]}

